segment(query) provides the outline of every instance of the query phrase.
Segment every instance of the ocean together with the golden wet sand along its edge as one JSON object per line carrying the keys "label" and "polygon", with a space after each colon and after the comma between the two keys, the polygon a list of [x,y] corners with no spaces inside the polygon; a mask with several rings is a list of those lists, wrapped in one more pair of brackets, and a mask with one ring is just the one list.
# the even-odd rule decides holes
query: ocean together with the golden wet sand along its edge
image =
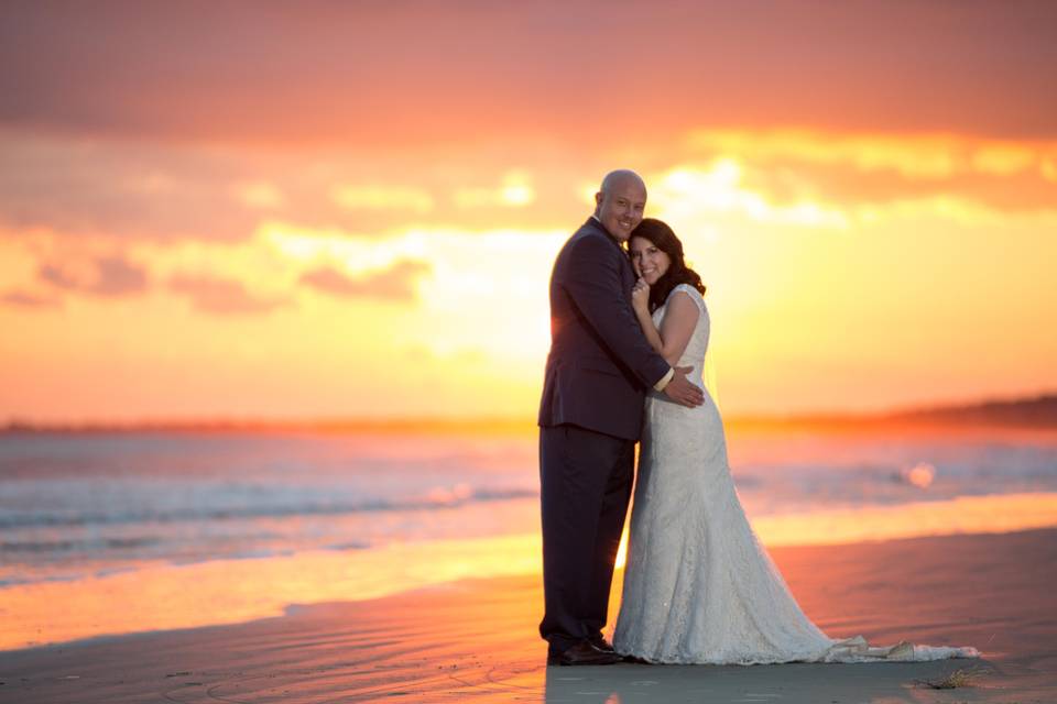
{"label": "ocean together with the golden wet sand along its edge", "polygon": [[[528,430],[2,433],[0,649],[538,570],[536,443]],[[765,544],[1057,525],[1055,432],[802,428],[728,444]]]}

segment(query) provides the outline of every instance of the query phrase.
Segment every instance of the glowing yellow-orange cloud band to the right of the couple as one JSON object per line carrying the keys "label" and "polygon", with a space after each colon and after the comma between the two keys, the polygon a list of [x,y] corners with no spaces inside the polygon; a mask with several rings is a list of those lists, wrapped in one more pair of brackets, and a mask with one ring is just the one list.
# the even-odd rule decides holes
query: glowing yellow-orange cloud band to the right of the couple
{"label": "glowing yellow-orange cloud band to the right of the couple", "polygon": [[954,134],[696,131],[693,160],[737,160],[741,182],[777,205],[842,207],[956,198],[1005,211],[1053,209],[1044,165],[1057,141]]}

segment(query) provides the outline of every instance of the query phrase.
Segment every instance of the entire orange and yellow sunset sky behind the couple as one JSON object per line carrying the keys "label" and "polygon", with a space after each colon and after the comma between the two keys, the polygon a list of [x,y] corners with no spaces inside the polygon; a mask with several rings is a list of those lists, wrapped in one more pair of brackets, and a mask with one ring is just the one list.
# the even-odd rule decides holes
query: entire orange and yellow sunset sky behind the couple
{"label": "entire orange and yellow sunset sky behind the couple", "polygon": [[533,417],[639,170],[728,414],[1057,388],[1053,2],[7,2],[0,422]]}

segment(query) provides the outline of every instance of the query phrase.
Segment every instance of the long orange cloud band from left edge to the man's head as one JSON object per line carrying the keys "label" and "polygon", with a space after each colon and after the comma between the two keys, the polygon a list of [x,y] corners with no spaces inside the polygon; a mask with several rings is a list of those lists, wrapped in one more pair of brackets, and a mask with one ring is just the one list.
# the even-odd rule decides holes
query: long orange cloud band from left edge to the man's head
{"label": "long orange cloud band from left edge to the man's head", "polygon": [[580,204],[568,197],[576,169],[592,179],[606,169],[590,161],[576,169],[541,162],[530,146],[517,151],[525,166],[515,173],[508,163],[513,150],[427,158],[424,166],[400,154],[366,158],[117,139],[87,146],[70,135],[28,138],[0,127],[0,229],[121,246],[246,241],[265,219],[371,238],[424,223],[508,227],[512,215],[519,227],[553,228],[580,216]]}

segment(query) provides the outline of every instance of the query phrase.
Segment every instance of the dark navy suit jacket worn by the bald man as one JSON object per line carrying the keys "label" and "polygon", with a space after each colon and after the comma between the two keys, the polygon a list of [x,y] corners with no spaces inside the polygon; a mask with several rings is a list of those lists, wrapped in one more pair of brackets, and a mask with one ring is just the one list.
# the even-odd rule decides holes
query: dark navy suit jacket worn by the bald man
{"label": "dark navy suit jacket worn by the bald man", "polygon": [[551,274],[551,353],[538,424],[571,424],[638,440],[647,388],[668,363],[646,342],[631,308],[631,262],[589,218]]}

